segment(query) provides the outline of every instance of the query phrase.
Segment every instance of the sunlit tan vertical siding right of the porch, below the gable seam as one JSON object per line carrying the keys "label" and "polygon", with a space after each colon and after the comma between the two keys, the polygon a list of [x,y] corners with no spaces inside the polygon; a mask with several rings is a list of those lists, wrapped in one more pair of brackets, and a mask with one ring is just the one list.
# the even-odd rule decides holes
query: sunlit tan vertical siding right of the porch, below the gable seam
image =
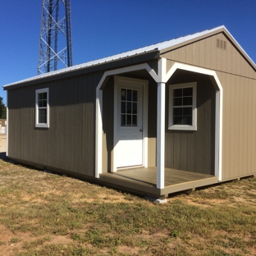
{"label": "sunlit tan vertical siding right of the porch, below the gable seam", "polygon": [[218,75],[223,86],[223,180],[255,173],[256,81]]}

